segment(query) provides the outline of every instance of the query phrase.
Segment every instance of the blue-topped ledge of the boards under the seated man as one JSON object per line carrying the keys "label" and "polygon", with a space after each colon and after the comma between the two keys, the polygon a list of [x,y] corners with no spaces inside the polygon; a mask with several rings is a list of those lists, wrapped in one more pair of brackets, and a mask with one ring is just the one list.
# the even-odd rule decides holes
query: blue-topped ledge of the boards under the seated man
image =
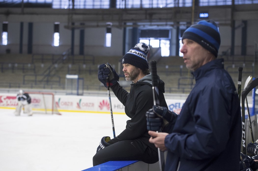
{"label": "blue-topped ledge of the boards under the seated man", "polygon": [[159,164],[147,164],[143,161],[128,160],[128,161],[108,161],[97,166],[90,167],[82,171],[120,171],[120,170],[141,170],[141,171],[157,171]]}

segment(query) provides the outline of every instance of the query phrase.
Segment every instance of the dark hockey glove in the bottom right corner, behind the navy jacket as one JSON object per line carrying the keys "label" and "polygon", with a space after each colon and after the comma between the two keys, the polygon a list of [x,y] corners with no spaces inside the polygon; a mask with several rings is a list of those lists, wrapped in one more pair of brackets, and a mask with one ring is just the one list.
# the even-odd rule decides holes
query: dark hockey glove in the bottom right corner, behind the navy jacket
{"label": "dark hockey glove in the bottom right corner, behind the navy jacket", "polygon": [[240,153],[240,171],[255,171],[258,169],[258,163],[256,163],[250,156]]}

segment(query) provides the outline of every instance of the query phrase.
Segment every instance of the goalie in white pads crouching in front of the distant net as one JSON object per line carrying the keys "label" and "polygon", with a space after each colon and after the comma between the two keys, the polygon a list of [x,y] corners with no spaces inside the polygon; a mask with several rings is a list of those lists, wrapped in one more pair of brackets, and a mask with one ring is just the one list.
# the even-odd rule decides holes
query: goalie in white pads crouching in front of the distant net
{"label": "goalie in white pads crouching in front of the distant net", "polygon": [[23,90],[19,90],[16,98],[18,100],[18,106],[16,107],[16,110],[14,112],[15,116],[20,116],[21,110],[23,107],[24,107],[24,113],[28,113],[28,116],[32,116],[33,113],[29,105],[31,103],[31,98],[29,94],[24,93]]}

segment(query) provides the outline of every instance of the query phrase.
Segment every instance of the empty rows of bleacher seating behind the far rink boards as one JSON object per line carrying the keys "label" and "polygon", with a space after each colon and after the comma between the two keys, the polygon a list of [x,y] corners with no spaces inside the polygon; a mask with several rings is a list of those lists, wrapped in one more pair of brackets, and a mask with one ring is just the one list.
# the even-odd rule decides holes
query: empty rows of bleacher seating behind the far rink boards
{"label": "empty rows of bleacher seating behind the far rink boards", "polygon": [[[66,74],[78,74],[79,78],[84,78],[84,90],[106,91],[106,88],[100,84],[97,75],[98,66],[102,63],[109,62],[120,74],[120,83],[123,84],[127,91],[130,91],[130,86],[128,86],[130,83],[128,85],[124,83],[125,79],[120,64],[121,56],[66,56],[64,59],[61,58],[62,61],[59,63],[53,63],[60,56],[0,54],[0,75],[2,78],[0,87],[65,89]],[[219,56],[218,58],[223,58],[223,56]],[[225,56],[224,60],[225,69],[231,75],[236,87],[238,67],[243,67],[242,81],[245,81],[249,75],[257,77],[258,71],[254,67],[253,56]],[[150,61],[148,62],[150,63]],[[49,69],[51,65],[52,68]],[[194,86],[191,72],[186,68],[182,57],[170,56],[160,58],[157,63],[157,73],[160,79],[165,82],[166,93],[189,93]],[[35,83],[35,80],[27,79],[29,74],[48,74],[50,77],[47,77],[43,81],[37,80]],[[60,81],[57,81],[59,78]]]}

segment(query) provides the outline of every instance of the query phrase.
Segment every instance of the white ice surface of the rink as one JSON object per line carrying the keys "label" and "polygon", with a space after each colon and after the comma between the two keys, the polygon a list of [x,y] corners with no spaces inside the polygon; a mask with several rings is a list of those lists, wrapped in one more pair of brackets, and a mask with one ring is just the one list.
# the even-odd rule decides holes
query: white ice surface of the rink
{"label": "white ice surface of the rink", "polygon": [[[0,109],[0,170],[80,171],[92,167],[103,136],[112,134],[109,114],[61,112],[62,115],[15,116]],[[116,135],[126,115],[114,114]]]}

